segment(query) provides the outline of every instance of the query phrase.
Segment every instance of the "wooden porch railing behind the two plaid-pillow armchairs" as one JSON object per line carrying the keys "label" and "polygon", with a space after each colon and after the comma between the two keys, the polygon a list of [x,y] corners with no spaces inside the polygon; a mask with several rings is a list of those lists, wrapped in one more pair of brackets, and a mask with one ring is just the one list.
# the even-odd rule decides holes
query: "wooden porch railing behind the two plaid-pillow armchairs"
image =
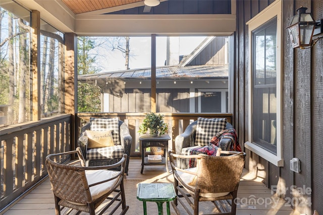
{"label": "wooden porch railing behind the two plaid-pillow armchairs", "polygon": [[[197,117],[221,117],[227,118],[232,123],[231,113],[161,113],[165,116],[165,121],[168,123],[168,134],[171,137],[169,141],[169,148],[175,149],[175,137],[185,130]],[[139,125],[142,123],[146,113],[78,113],[76,117],[76,136],[80,135],[82,125],[90,120],[90,117],[119,117],[124,121],[132,136],[131,156],[140,157],[139,144]],[[172,143],[172,144],[171,144]]]}

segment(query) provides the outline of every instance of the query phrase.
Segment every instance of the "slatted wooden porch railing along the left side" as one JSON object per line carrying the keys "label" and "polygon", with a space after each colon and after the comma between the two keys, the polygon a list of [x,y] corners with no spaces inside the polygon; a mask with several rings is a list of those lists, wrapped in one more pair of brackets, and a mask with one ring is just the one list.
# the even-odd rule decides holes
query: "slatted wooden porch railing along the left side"
{"label": "slatted wooden porch railing along the left side", "polygon": [[47,175],[48,154],[72,149],[70,134],[70,114],[1,129],[0,212]]}

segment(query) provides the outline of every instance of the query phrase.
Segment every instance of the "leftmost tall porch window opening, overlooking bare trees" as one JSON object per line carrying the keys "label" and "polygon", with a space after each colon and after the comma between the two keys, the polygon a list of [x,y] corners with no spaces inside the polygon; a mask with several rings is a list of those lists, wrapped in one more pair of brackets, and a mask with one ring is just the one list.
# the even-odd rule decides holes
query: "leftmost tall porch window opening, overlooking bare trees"
{"label": "leftmost tall porch window opening, overlooking bare trees", "polygon": [[0,127],[31,120],[30,12],[9,9],[0,7]]}

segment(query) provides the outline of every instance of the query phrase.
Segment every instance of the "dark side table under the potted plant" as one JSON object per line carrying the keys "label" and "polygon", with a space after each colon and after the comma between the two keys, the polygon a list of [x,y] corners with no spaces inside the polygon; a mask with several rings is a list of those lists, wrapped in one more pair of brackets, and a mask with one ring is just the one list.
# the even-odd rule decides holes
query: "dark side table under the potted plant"
{"label": "dark side table under the potted plant", "polygon": [[[161,136],[150,136],[150,135],[142,135],[139,137],[139,140],[141,142],[141,174],[143,172],[143,167],[145,165],[150,165],[150,166],[156,166],[156,165],[165,165],[167,173],[169,173],[168,170],[168,140],[170,140],[171,137],[168,134],[163,134]],[[149,163],[148,162],[148,157],[145,157],[145,151],[146,148],[148,147],[160,147],[164,148],[164,156],[161,157],[161,162],[159,163]]]}

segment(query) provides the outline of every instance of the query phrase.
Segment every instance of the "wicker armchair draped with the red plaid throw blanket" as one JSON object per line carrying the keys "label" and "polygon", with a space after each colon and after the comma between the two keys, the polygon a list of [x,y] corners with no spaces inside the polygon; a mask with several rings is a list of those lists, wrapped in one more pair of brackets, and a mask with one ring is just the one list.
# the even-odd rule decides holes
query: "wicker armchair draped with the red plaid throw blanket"
{"label": "wicker armchair draped with the red plaid throw blanket", "polygon": [[[176,136],[176,138],[175,138],[175,153],[177,155],[183,155],[182,150],[184,148],[197,146],[197,143],[195,142],[196,127],[197,127],[197,120],[192,122],[191,124],[189,124],[182,134]],[[232,126],[232,124],[227,122],[226,129],[230,129],[230,128],[233,128],[233,126]],[[221,140],[219,142],[219,146],[229,145],[229,143],[231,141],[232,141],[231,138],[221,138]],[[177,159],[177,167],[179,167],[181,169],[189,168],[189,160],[188,159]]]}

